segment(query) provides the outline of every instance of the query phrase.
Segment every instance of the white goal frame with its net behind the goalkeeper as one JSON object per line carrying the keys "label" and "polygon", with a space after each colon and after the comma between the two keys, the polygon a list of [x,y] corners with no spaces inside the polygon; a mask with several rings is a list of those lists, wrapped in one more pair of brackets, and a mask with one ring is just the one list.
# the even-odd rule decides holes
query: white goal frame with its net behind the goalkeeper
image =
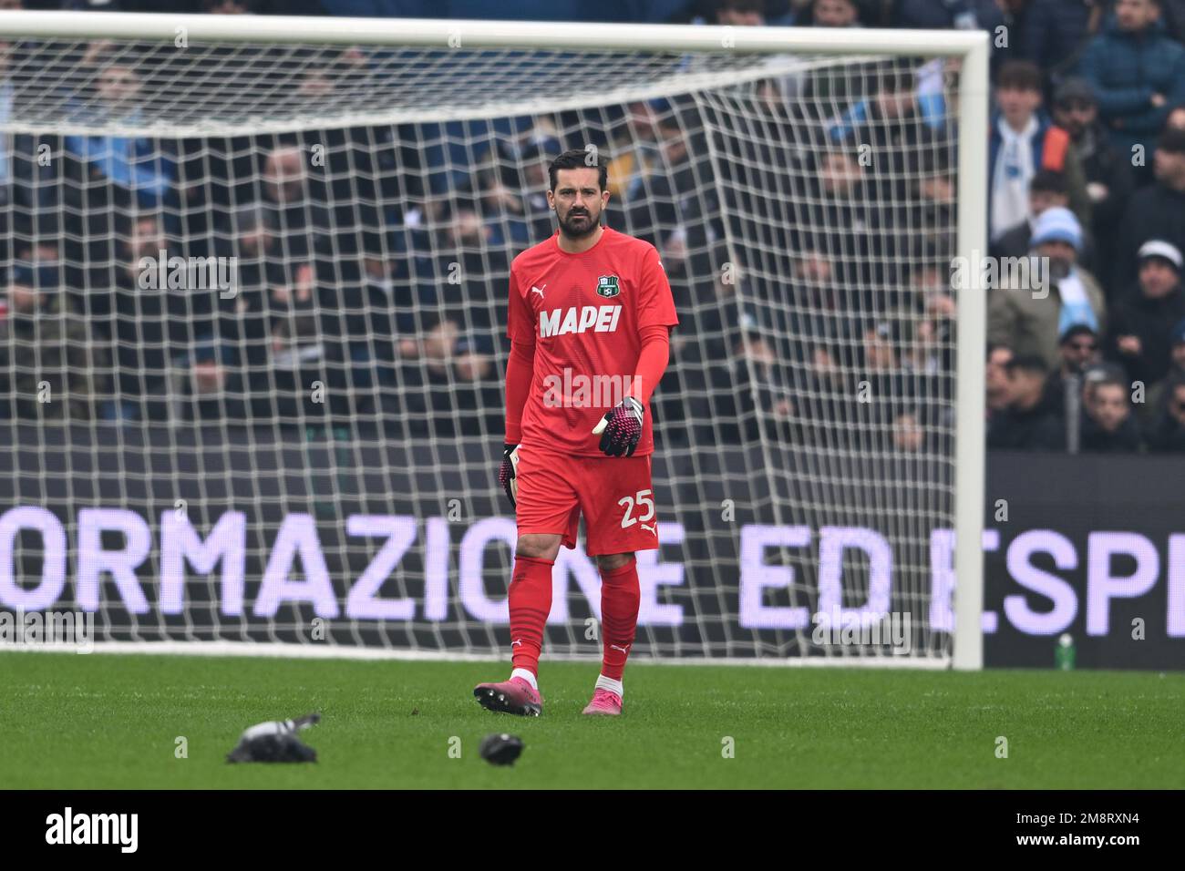
{"label": "white goal frame with its net behind the goalkeeper", "polygon": [[[979,37],[0,28],[0,608],[504,653],[507,275],[576,147],[680,318],[634,658],[944,665],[956,613],[978,646]],[[598,655],[595,562],[555,584],[545,655]]]}

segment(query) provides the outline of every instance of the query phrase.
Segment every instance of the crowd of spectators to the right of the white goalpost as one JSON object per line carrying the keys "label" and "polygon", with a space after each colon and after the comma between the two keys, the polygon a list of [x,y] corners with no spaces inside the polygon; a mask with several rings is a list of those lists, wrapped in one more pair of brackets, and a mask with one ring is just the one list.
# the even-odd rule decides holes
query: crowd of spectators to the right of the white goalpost
{"label": "crowd of spectators to the right of the white goalpost", "polygon": [[1049,274],[989,294],[988,446],[1180,450],[1185,7],[1090,12],[1056,71],[1008,59],[997,77],[993,252]]}

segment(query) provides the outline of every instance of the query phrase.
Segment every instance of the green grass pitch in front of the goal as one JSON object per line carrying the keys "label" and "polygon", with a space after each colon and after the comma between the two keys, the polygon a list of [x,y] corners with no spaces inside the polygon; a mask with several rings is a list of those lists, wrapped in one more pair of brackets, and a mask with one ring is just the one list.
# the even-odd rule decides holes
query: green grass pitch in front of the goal
{"label": "green grass pitch in front of the goal", "polygon": [[[642,664],[609,719],[581,716],[595,664],[544,662],[544,715],[524,719],[472,696],[507,672],[0,653],[0,788],[1185,786],[1183,673]],[[312,710],[325,717],[303,732],[316,764],[226,764],[244,728]],[[495,731],[526,743],[515,766],[478,755]]]}

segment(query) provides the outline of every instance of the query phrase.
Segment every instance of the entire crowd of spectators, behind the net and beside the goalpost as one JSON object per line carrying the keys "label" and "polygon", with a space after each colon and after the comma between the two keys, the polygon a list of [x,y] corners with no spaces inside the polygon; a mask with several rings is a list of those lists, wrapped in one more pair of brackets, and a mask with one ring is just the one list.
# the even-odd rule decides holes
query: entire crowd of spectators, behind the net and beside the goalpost
{"label": "entire crowd of spectators, behind the net and beside the goalpost", "polygon": [[[305,6],[169,11],[411,8]],[[688,25],[991,31],[991,255],[1048,269],[1039,288],[987,290],[988,444],[1185,449],[1185,2],[645,8]],[[87,92],[65,98],[89,120],[134,124],[137,63],[95,43],[83,66]],[[660,249],[680,307],[655,399],[665,437],[745,440],[769,425],[795,442],[942,449],[956,81],[956,64],[922,59],[786,76],[757,88],[744,129],[723,132],[672,97],[292,134],[7,136],[0,416],[497,437],[510,261],[553,231],[549,156],[591,143],[610,161],[607,222]],[[310,65],[293,87],[324,97],[334,83]],[[0,82],[0,123],[19,100]],[[788,188],[754,182],[775,177]],[[162,252],[233,257],[233,293],[146,287],[145,258]]]}

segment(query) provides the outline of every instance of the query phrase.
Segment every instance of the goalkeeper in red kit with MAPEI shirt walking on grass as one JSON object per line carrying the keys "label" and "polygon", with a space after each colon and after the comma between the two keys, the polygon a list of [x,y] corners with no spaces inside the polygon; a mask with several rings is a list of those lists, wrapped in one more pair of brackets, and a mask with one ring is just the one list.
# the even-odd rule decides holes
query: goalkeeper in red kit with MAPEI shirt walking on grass
{"label": "goalkeeper in red kit with MAPEI shirt walking on grass", "polygon": [[638,625],[634,551],[659,546],[651,485],[649,398],[678,325],[654,245],[601,225],[604,164],[568,150],[549,167],[559,230],[511,265],[506,444],[499,481],[515,508],[508,680],[473,694],[492,711],[543,712],[539,649],[551,611],[551,569],[576,546],[601,571],[604,652],[589,715],[617,715]]}

